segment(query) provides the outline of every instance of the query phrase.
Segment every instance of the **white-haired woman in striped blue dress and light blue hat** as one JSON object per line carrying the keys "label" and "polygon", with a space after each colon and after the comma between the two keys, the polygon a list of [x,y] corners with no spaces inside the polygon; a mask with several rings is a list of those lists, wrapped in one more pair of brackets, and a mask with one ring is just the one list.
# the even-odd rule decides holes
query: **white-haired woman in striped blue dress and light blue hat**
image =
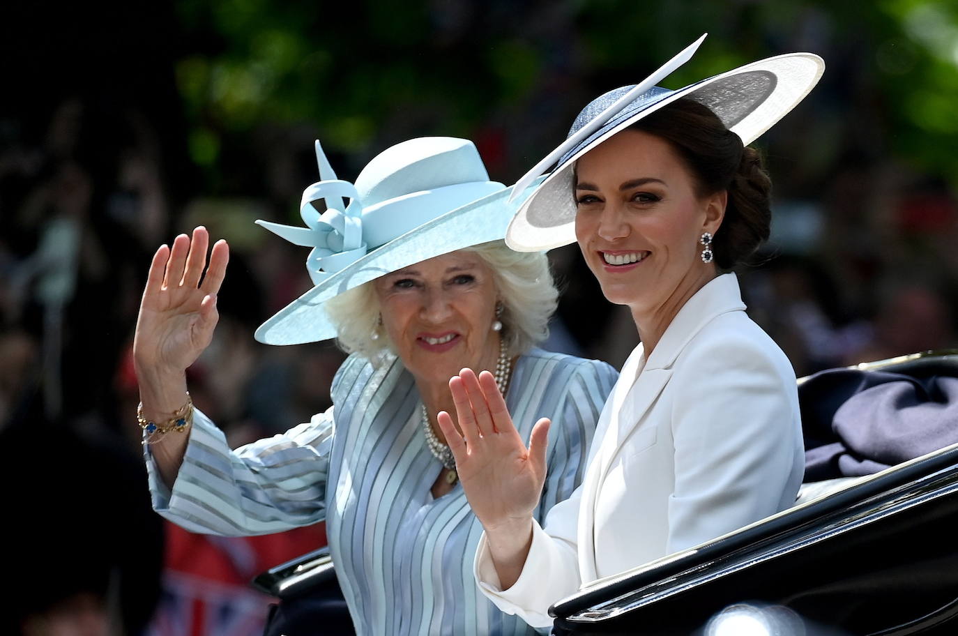
{"label": "white-haired woman in striped blue dress and light blue hat", "polygon": [[318,145],[317,155],[324,180],[304,193],[307,227],[262,223],[313,247],[316,285],[257,337],[290,344],[338,334],[352,354],[333,380],[333,406],[285,434],[226,445],[193,409],[184,372],[216,325],[228,247],[218,241],[207,267],[204,228],[175,238],[150,266],[134,345],[154,508],[213,534],[325,519],[357,633],[529,633],[472,579],[482,529],[436,424],[452,408],[448,378],[464,366],[493,371],[513,413],[560,422],[533,512],[543,519],[582,480],[615,371],[536,349],[556,304],[548,263],[501,240],[514,206],[471,143],[404,142],[355,184],[335,178]]}

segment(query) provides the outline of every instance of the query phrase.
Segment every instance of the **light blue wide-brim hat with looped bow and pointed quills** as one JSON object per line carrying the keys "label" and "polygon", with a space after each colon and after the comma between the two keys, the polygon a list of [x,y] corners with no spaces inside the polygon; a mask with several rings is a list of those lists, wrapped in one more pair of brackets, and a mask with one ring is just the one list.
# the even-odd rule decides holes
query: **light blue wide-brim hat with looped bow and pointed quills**
{"label": "light blue wide-brim hat with looped bow and pointed quills", "polygon": [[[324,310],[331,298],[414,263],[504,238],[524,199],[510,201],[513,189],[490,181],[466,139],[422,137],[387,148],[354,184],[336,178],[318,141],[316,159],[322,180],[300,203],[306,227],[257,221],[312,248],[307,269],[314,286],[256,330],[267,345],[336,337]],[[323,213],[312,205],[320,199]]]}

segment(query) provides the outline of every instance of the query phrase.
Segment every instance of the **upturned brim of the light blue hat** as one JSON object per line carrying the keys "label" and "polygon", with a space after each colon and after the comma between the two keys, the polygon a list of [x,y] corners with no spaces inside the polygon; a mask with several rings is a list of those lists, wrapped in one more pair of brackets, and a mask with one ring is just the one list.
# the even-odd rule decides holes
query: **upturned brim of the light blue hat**
{"label": "upturned brim of the light blue hat", "polygon": [[[536,180],[536,184],[541,182]],[[256,330],[266,345],[299,345],[336,337],[324,310],[331,298],[403,267],[449,252],[505,237],[516,208],[533,187],[509,201],[513,188],[503,188],[394,238],[361,259],[335,272],[283,307]]]}

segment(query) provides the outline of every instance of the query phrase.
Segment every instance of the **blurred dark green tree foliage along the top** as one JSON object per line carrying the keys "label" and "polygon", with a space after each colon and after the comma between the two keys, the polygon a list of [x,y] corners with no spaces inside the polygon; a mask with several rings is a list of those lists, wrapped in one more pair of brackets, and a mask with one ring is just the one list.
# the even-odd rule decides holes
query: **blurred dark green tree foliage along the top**
{"label": "blurred dark green tree foliage along the top", "polygon": [[[708,32],[667,85],[821,53],[829,70],[816,99],[839,121],[823,130],[873,135],[873,152],[958,180],[958,2],[178,0],[177,11],[189,145],[211,177],[228,140],[262,125],[308,123],[332,151],[361,155],[402,136],[535,118],[548,79],[569,82],[550,93],[568,97],[555,106],[567,121],[589,91],[636,81]],[[843,130],[858,109],[869,113],[856,125],[871,128]],[[540,149],[513,148],[513,160]]]}

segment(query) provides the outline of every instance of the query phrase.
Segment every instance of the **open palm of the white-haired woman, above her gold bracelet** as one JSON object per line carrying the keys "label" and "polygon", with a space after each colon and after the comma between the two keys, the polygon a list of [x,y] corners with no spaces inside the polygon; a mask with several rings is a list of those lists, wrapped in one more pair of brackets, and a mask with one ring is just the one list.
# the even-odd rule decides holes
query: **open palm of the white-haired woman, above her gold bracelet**
{"label": "open palm of the white-haired woman, above her gold bracelet", "polygon": [[217,326],[217,292],[229,261],[226,241],[218,240],[207,268],[209,241],[206,228],[197,227],[192,240],[180,235],[172,248],[163,245],[153,256],[133,342],[138,367],[182,373],[209,346]]}

